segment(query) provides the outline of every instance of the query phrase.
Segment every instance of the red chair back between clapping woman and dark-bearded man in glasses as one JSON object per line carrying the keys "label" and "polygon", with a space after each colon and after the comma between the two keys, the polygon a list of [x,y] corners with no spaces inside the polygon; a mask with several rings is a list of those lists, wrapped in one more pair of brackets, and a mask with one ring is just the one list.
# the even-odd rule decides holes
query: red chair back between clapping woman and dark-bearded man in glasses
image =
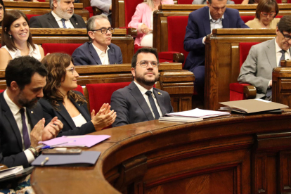
{"label": "red chair back between clapping woman and dark-bearded man in glasses", "polygon": [[95,110],[97,113],[103,103],[109,103],[111,96],[117,89],[122,89],[128,86],[131,82],[119,82],[119,83],[105,83],[105,84],[86,84],[86,89],[89,95],[90,112]]}

